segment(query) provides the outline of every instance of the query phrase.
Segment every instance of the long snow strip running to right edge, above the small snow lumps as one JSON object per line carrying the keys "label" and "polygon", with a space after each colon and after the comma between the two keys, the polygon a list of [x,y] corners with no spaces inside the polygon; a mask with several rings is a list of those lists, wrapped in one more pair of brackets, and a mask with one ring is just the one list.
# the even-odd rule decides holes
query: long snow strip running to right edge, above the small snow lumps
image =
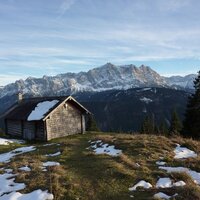
{"label": "long snow strip running to right edge, above the small snow lumps", "polygon": [[196,184],[200,185],[200,173],[190,170],[186,167],[162,167],[160,166],[159,169],[163,169],[165,171],[167,171],[167,173],[172,173],[172,172],[185,172],[186,174],[188,174],[189,176],[192,177],[193,181]]}

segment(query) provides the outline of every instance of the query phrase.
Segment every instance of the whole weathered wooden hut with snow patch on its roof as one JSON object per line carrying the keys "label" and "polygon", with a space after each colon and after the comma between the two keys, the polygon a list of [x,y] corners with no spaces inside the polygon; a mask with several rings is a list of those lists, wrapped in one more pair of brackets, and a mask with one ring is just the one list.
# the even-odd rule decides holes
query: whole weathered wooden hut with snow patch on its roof
{"label": "whole weathered wooden hut with snow patch on its roof", "polygon": [[90,112],[71,96],[21,99],[5,116],[6,134],[48,141],[84,133],[87,114]]}

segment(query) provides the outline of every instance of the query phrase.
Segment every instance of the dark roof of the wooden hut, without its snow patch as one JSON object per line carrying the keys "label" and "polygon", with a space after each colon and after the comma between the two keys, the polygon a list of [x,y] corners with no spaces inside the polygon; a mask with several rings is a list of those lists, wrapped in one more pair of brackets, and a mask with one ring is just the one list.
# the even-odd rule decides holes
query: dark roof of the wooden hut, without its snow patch
{"label": "dark roof of the wooden hut, without its snow patch", "polygon": [[83,113],[90,113],[85,107],[83,107],[80,103],[78,103],[73,97],[71,96],[62,96],[62,97],[37,97],[37,98],[27,98],[23,99],[15,108],[11,110],[6,116],[5,119],[11,120],[25,120],[27,121],[28,117],[35,110],[36,106],[39,103],[45,101],[53,101],[57,100],[58,102],[52,106],[46,113],[44,113],[43,117],[39,120],[31,120],[31,121],[40,121],[45,120],[54,109],[56,109],[59,105],[65,102],[69,102],[73,106],[75,106],[78,110]]}

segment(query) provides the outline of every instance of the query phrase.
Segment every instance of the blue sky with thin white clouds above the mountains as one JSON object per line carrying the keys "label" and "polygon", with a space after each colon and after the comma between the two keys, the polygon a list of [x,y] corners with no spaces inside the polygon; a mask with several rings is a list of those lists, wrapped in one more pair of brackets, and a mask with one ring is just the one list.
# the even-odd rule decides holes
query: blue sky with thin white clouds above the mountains
{"label": "blue sky with thin white clouds above the mountains", "polygon": [[198,0],[0,0],[0,85],[107,62],[200,68]]}

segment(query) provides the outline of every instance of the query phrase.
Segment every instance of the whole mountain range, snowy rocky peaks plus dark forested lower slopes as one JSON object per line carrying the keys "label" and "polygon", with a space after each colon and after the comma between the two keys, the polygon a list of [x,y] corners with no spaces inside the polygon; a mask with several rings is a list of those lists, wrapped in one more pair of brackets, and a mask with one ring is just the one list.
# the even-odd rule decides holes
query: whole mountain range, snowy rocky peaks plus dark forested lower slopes
{"label": "whole mountain range, snowy rocky peaks plus dark forested lower slopes", "polygon": [[0,88],[0,126],[19,92],[25,98],[73,95],[94,114],[104,131],[138,131],[145,116],[169,125],[174,109],[183,119],[195,77],[163,77],[148,66],[111,63],[88,72],[29,77]]}

